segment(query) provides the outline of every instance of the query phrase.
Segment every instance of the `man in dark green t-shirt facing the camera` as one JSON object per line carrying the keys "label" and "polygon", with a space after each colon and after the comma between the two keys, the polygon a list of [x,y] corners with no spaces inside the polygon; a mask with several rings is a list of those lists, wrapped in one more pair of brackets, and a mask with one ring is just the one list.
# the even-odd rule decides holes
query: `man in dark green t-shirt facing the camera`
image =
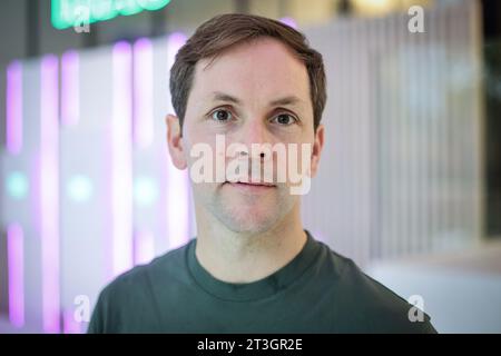
{"label": "man in dark green t-shirt facing the camera", "polygon": [[[302,33],[256,16],[213,18],[179,50],[170,91],[167,141],[174,165],[190,169],[198,236],[107,286],[89,333],[434,333],[428,315],[412,322],[413,306],[303,229],[287,168],[306,158],[301,185],[315,176],[326,93],[322,56]],[[218,156],[220,138],[233,154]],[[204,166],[214,179],[195,181],[200,147],[247,166],[233,176]],[[297,147],[310,149],[293,156]]]}

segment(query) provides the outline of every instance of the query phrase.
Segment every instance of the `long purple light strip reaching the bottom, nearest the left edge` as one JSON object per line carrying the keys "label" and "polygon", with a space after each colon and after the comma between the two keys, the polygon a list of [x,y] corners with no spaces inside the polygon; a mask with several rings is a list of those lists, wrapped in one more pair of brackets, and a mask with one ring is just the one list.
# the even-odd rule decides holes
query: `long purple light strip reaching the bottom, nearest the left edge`
{"label": "long purple light strip reaching the bottom, nearest the left edge", "polygon": [[40,81],[40,235],[42,315],[46,333],[59,333],[59,103],[58,58],[41,61]]}

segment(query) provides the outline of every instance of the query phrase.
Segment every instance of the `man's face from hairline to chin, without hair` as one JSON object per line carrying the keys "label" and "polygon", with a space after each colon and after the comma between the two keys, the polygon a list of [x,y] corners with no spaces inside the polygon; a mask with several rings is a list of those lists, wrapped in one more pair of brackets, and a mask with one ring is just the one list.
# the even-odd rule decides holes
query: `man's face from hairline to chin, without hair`
{"label": "man's face from hairline to chin, without hair", "polygon": [[[323,128],[320,131],[322,136]],[[250,169],[253,164],[271,159],[274,181],[265,182],[262,177],[252,184],[229,182],[226,177],[223,182],[194,182],[197,209],[233,231],[257,234],[271,229],[298,204],[298,196],[291,195],[288,175],[286,181],[276,181],[277,169],[287,171],[287,160],[278,162],[276,154],[265,158],[253,155],[252,145],[297,144],[301,161],[301,145],[310,144],[315,150],[318,144],[306,68],[282,42],[262,38],[197,63],[180,138],[188,169],[197,160],[191,149],[199,144],[212,147],[216,161],[217,136],[224,136],[226,148],[235,142],[247,147],[247,156],[224,157],[225,167],[235,159],[245,159]],[[310,174],[315,171],[316,160]]]}

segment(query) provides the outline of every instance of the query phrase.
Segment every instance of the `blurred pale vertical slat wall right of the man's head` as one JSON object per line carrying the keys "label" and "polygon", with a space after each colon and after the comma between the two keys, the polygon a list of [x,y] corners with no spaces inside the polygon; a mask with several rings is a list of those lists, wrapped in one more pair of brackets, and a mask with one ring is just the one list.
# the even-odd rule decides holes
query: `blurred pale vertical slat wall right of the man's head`
{"label": "blurred pale vertical slat wall right of the man's head", "polygon": [[362,266],[465,248],[482,221],[477,1],[306,29],[327,70],[326,145],[305,226]]}

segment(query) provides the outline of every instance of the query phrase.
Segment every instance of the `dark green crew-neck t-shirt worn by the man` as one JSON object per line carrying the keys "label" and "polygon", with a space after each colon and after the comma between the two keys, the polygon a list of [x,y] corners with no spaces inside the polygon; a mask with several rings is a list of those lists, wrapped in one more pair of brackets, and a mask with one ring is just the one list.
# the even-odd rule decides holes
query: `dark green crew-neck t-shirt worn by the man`
{"label": "dark green crew-neck t-shirt worn by the man", "polygon": [[115,279],[88,332],[435,333],[428,315],[410,322],[407,301],[310,234],[292,261],[248,284],[214,278],[195,246],[196,238]]}

